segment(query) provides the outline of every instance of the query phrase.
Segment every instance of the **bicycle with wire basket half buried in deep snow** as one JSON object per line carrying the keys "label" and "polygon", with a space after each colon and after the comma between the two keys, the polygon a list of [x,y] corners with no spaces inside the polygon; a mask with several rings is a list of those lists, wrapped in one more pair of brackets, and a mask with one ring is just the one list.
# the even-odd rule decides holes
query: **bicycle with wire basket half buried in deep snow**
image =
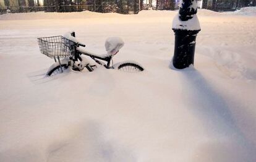
{"label": "bicycle with wire basket half buried in deep snow", "polygon": [[[69,67],[72,67],[72,70],[76,71],[82,71],[86,67],[89,72],[92,72],[98,65],[106,69],[118,69],[129,72],[140,72],[144,70],[142,66],[134,61],[113,64],[114,55],[124,46],[124,41],[118,37],[112,37],[106,40],[105,48],[107,53],[102,55],[93,54],[81,48],[81,46],[85,47],[85,45],[76,40],[75,32],[68,33],[64,36],[49,36],[37,39],[40,52],[55,61],[46,72],[48,76],[60,74]],[[82,55],[92,58],[96,64],[90,64],[88,59]]]}

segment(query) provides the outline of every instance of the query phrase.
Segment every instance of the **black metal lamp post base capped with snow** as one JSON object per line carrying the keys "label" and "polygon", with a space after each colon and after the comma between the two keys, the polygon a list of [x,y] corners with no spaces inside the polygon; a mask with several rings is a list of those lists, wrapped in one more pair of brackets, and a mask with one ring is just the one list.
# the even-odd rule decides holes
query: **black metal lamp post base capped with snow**
{"label": "black metal lamp post base capped with snow", "polygon": [[173,19],[175,34],[173,66],[177,69],[184,69],[194,64],[195,38],[201,30],[196,14],[196,0],[181,0],[179,14]]}

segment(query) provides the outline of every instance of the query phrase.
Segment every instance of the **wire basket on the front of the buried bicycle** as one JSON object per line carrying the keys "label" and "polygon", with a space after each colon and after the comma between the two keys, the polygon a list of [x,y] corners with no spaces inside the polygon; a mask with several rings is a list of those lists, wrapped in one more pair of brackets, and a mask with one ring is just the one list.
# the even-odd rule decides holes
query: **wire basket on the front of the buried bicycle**
{"label": "wire basket on the front of the buried bicycle", "polygon": [[69,58],[75,51],[75,42],[64,36],[37,38],[40,52],[49,58]]}

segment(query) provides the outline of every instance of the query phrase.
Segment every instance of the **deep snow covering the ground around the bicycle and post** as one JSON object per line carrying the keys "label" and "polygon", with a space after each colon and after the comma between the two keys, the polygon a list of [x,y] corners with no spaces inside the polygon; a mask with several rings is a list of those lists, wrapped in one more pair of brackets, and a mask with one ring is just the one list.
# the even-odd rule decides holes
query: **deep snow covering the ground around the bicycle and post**
{"label": "deep snow covering the ground around the bicycle and post", "polygon": [[[242,14],[241,14],[242,13]],[[169,67],[177,11],[0,15],[0,161],[256,161],[256,14],[198,11],[195,66]],[[37,37],[108,36],[142,73],[45,78]]]}

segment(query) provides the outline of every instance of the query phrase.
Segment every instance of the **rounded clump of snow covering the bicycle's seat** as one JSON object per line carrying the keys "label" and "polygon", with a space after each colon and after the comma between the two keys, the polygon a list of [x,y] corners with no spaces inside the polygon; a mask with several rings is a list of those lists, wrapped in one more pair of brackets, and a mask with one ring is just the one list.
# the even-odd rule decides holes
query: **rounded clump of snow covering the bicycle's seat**
{"label": "rounded clump of snow covering the bicycle's seat", "polygon": [[110,56],[116,54],[122,46],[124,46],[124,41],[119,37],[110,37],[105,41],[105,48]]}

